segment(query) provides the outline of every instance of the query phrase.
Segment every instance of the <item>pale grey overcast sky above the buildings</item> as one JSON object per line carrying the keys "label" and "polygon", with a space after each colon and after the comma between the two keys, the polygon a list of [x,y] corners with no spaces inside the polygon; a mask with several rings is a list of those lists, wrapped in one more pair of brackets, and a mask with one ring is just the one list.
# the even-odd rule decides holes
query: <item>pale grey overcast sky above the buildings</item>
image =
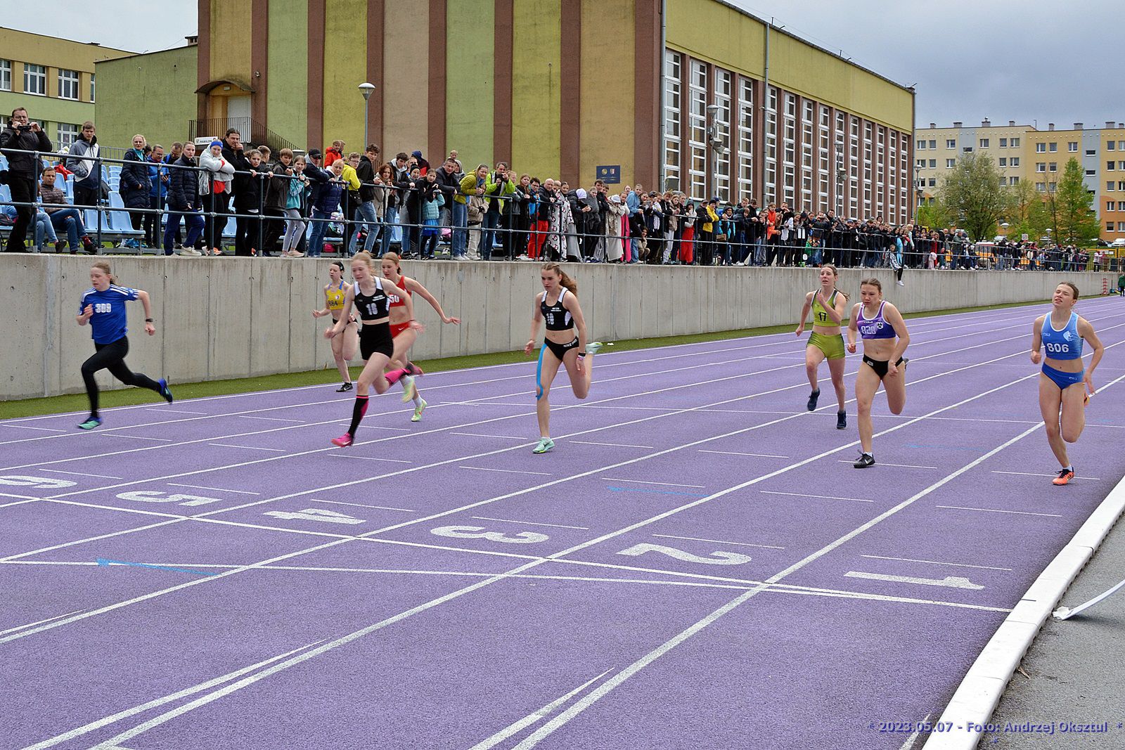
{"label": "pale grey overcast sky above the buildings", "polygon": [[[605,0],[612,2],[612,0]],[[145,52],[196,33],[194,0],[4,2],[0,25]],[[667,0],[676,2],[676,0]],[[1122,0],[729,0],[918,91],[917,124],[1125,121]],[[84,6],[93,12],[74,12]],[[135,19],[135,20],[126,20]]]}

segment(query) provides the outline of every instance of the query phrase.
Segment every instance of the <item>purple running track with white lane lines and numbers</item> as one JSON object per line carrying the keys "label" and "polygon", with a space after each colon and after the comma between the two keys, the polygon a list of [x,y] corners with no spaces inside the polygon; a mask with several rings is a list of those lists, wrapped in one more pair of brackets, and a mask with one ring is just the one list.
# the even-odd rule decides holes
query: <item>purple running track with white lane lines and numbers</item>
{"label": "purple running track with white lane lines and numbers", "polygon": [[[1125,473],[1125,306],[1078,476],[1027,360],[1044,307],[910,320],[850,467],[792,334],[0,422],[4,748],[901,748]],[[852,396],[858,355],[847,360]]]}

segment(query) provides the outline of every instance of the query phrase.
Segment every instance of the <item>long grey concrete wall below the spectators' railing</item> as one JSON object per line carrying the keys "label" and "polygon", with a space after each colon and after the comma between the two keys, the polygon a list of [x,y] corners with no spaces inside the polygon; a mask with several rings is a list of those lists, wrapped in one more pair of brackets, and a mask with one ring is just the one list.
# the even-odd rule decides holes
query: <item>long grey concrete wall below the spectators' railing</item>
{"label": "long grey concrete wall below the spectators' railing", "polygon": [[[153,298],[156,335],[144,335],[144,311],[129,305],[129,367],[173,382],[245,378],[332,368],[322,336],[327,260],[241,257],[114,257],[125,286]],[[74,323],[89,288],[90,259],[2,255],[0,399],[83,390],[79,365],[93,351],[90,329]],[[567,268],[578,282],[591,336],[604,341],[729,331],[794,323],[814,269],[728,269],[584,264]],[[542,289],[536,263],[408,262],[416,278],[460,326],[442,325],[415,297],[428,329],[416,359],[511,351],[523,346],[532,297]],[[839,288],[857,297],[861,278],[875,275],[904,313],[1046,300],[1060,280],[1083,295],[1100,293],[1102,273],[994,271],[906,272],[904,288],[888,270],[840,271]],[[1030,322],[1028,322],[1030,326]],[[541,334],[540,334],[541,335]],[[108,373],[106,387],[117,387]]]}

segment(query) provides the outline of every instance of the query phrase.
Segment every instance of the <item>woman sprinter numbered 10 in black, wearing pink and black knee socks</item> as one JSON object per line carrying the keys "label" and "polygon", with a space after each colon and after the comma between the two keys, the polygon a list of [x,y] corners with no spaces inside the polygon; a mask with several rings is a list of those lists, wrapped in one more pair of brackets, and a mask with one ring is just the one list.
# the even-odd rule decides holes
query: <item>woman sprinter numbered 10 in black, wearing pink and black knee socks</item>
{"label": "woman sprinter numbered 10 in black, wearing pink and black knee socks", "polygon": [[395,351],[390,337],[390,295],[398,295],[405,299],[407,325],[415,331],[424,331],[424,327],[414,319],[414,304],[406,292],[375,275],[375,261],[370,253],[356,253],[351,270],[356,283],[344,292],[344,309],[341,310],[336,324],[324,332],[326,338],[334,338],[343,333],[344,327],[349,325],[352,305],[356,306],[363,324],[359,331],[359,352],[363,358],[363,371],[359,373],[359,382],[356,383],[351,425],[343,435],[332,439],[332,444],[340,448],[346,448],[356,442],[356,430],[360,419],[367,414],[368,388],[375,386],[375,392],[385,394],[392,385],[406,374],[405,369],[382,374]]}

